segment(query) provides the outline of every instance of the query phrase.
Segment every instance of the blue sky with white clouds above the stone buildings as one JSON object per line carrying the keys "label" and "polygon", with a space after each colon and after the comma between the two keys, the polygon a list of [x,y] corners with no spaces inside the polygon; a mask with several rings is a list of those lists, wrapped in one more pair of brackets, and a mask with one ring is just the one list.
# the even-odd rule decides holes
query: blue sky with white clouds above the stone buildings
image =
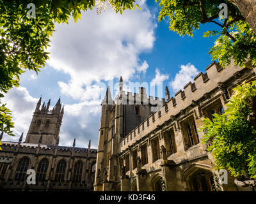
{"label": "blue sky with white clouds above the stone buildings", "polygon": [[[51,38],[51,55],[38,75],[27,71],[20,87],[4,98],[13,112],[15,137],[5,135],[4,141],[16,141],[28,132],[40,96],[51,98],[51,107],[58,98],[65,105],[60,131],[60,145],[97,148],[100,99],[109,81],[163,82],[172,95],[193,81],[211,64],[207,54],[214,38],[203,38],[204,25],[193,38],[168,30],[168,21],[157,22],[159,8],[152,0],[138,1],[142,10],[124,11],[123,15],[108,9],[83,13],[74,23],[56,24]],[[212,25],[211,25],[212,26]],[[132,90],[130,90],[132,91]],[[164,93],[164,90],[163,90]],[[115,90],[112,91],[115,95]]]}

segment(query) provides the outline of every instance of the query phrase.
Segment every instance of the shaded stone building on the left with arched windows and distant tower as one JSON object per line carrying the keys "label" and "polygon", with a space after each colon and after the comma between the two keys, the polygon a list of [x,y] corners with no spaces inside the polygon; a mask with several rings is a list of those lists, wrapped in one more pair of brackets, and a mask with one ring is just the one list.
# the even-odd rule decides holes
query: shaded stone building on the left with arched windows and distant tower
{"label": "shaded stone building on the left with arched windows and distant tower", "polygon": [[[92,191],[97,150],[59,146],[64,114],[60,99],[52,110],[51,101],[39,99],[26,140],[1,142],[0,191]],[[41,106],[41,108],[40,108]],[[3,139],[3,133],[0,141]],[[27,184],[27,170],[36,173],[36,184]]]}

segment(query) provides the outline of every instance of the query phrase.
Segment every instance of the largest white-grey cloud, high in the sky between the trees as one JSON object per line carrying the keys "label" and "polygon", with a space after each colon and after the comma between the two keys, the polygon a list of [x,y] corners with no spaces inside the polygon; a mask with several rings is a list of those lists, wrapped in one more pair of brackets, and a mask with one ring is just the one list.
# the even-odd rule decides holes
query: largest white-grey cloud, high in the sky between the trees
{"label": "largest white-grey cloud, high in the sky between the trees", "polygon": [[92,99],[94,96],[87,91],[92,83],[121,75],[129,80],[138,69],[147,70],[146,61],[140,65],[139,55],[154,45],[156,19],[144,1],[141,8],[126,10],[123,15],[111,9],[100,15],[88,10],[76,24],[73,20],[68,25],[56,24],[47,62],[70,75],[68,82],[59,82],[63,94]]}

